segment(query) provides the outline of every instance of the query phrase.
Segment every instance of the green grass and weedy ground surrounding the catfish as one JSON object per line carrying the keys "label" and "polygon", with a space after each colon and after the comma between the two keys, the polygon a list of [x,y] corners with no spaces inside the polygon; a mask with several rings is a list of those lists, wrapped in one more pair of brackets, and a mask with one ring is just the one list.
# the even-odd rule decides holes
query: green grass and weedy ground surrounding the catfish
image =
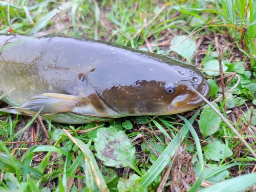
{"label": "green grass and weedy ground surrounding the catfish", "polygon": [[[196,64],[210,81],[210,100],[255,148],[256,2],[248,3],[0,1],[0,33],[101,39]],[[188,35],[192,40],[174,44]],[[196,52],[190,54],[186,44],[194,43]],[[212,71],[219,70],[222,50],[224,75],[229,75],[224,87],[230,90],[224,98],[220,75]],[[235,71],[239,77],[230,79]],[[256,184],[255,174],[249,175],[255,158],[208,108],[181,116],[84,125],[31,119],[0,116],[0,191],[168,191],[171,187],[233,192]],[[115,145],[108,145],[111,140]],[[108,151],[115,155],[102,153]],[[212,186],[204,188],[206,181]]]}

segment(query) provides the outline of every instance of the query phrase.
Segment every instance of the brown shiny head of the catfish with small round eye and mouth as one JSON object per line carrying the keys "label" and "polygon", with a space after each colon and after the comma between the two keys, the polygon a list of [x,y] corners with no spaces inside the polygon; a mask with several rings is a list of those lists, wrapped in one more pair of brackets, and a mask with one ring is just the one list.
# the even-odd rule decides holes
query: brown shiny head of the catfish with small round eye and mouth
{"label": "brown shiny head of the catfish with small round eye and mouth", "polygon": [[179,63],[161,65],[152,71],[155,72],[151,75],[137,74],[137,78],[131,74],[129,83],[112,84],[98,95],[106,105],[123,116],[170,115],[193,110],[204,101],[191,87],[204,97],[209,96],[208,82],[194,67]]}

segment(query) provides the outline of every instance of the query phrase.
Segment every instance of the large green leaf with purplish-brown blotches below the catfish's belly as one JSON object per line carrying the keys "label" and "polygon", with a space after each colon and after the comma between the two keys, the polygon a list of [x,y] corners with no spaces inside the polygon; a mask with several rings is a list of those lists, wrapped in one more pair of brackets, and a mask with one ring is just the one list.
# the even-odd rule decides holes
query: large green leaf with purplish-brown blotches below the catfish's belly
{"label": "large green leaf with purplish-brown blotches below the catfish's belly", "polygon": [[106,166],[120,168],[134,164],[135,147],[124,132],[114,127],[98,129],[95,150]]}

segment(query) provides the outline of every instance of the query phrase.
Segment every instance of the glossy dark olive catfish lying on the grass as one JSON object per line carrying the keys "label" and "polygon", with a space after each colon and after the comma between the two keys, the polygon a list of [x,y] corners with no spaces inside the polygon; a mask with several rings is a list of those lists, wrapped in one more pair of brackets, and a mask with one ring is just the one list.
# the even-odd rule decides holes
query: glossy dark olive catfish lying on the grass
{"label": "glossy dark olive catfish lying on the grass", "polygon": [[[62,36],[0,35],[0,88],[18,103],[10,113],[100,118],[169,115],[203,103],[209,85],[196,68],[109,42]],[[8,110],[6,110],[8,111]],[[51,115],[50,115],[51,114]],[[105,120],[105,119],[104,119]],[[100,121],[100,120],[99,120]]]}

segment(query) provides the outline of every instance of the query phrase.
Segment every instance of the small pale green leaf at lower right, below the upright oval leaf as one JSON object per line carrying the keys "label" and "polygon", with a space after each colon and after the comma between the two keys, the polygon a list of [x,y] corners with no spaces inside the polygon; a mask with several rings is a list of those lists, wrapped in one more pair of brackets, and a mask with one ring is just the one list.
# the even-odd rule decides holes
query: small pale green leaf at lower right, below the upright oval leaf
{"label": "small pale green leaf at lower right, below the upright oval leaf", "polygon": [[220,141],[209,143],[203,147],[202,150],[204,151],[204,155],[207,159],[214,161],[220,161],[221,159],[230,157],[233,154],[230,148],[227,148],[226,152],[226,145]]}

